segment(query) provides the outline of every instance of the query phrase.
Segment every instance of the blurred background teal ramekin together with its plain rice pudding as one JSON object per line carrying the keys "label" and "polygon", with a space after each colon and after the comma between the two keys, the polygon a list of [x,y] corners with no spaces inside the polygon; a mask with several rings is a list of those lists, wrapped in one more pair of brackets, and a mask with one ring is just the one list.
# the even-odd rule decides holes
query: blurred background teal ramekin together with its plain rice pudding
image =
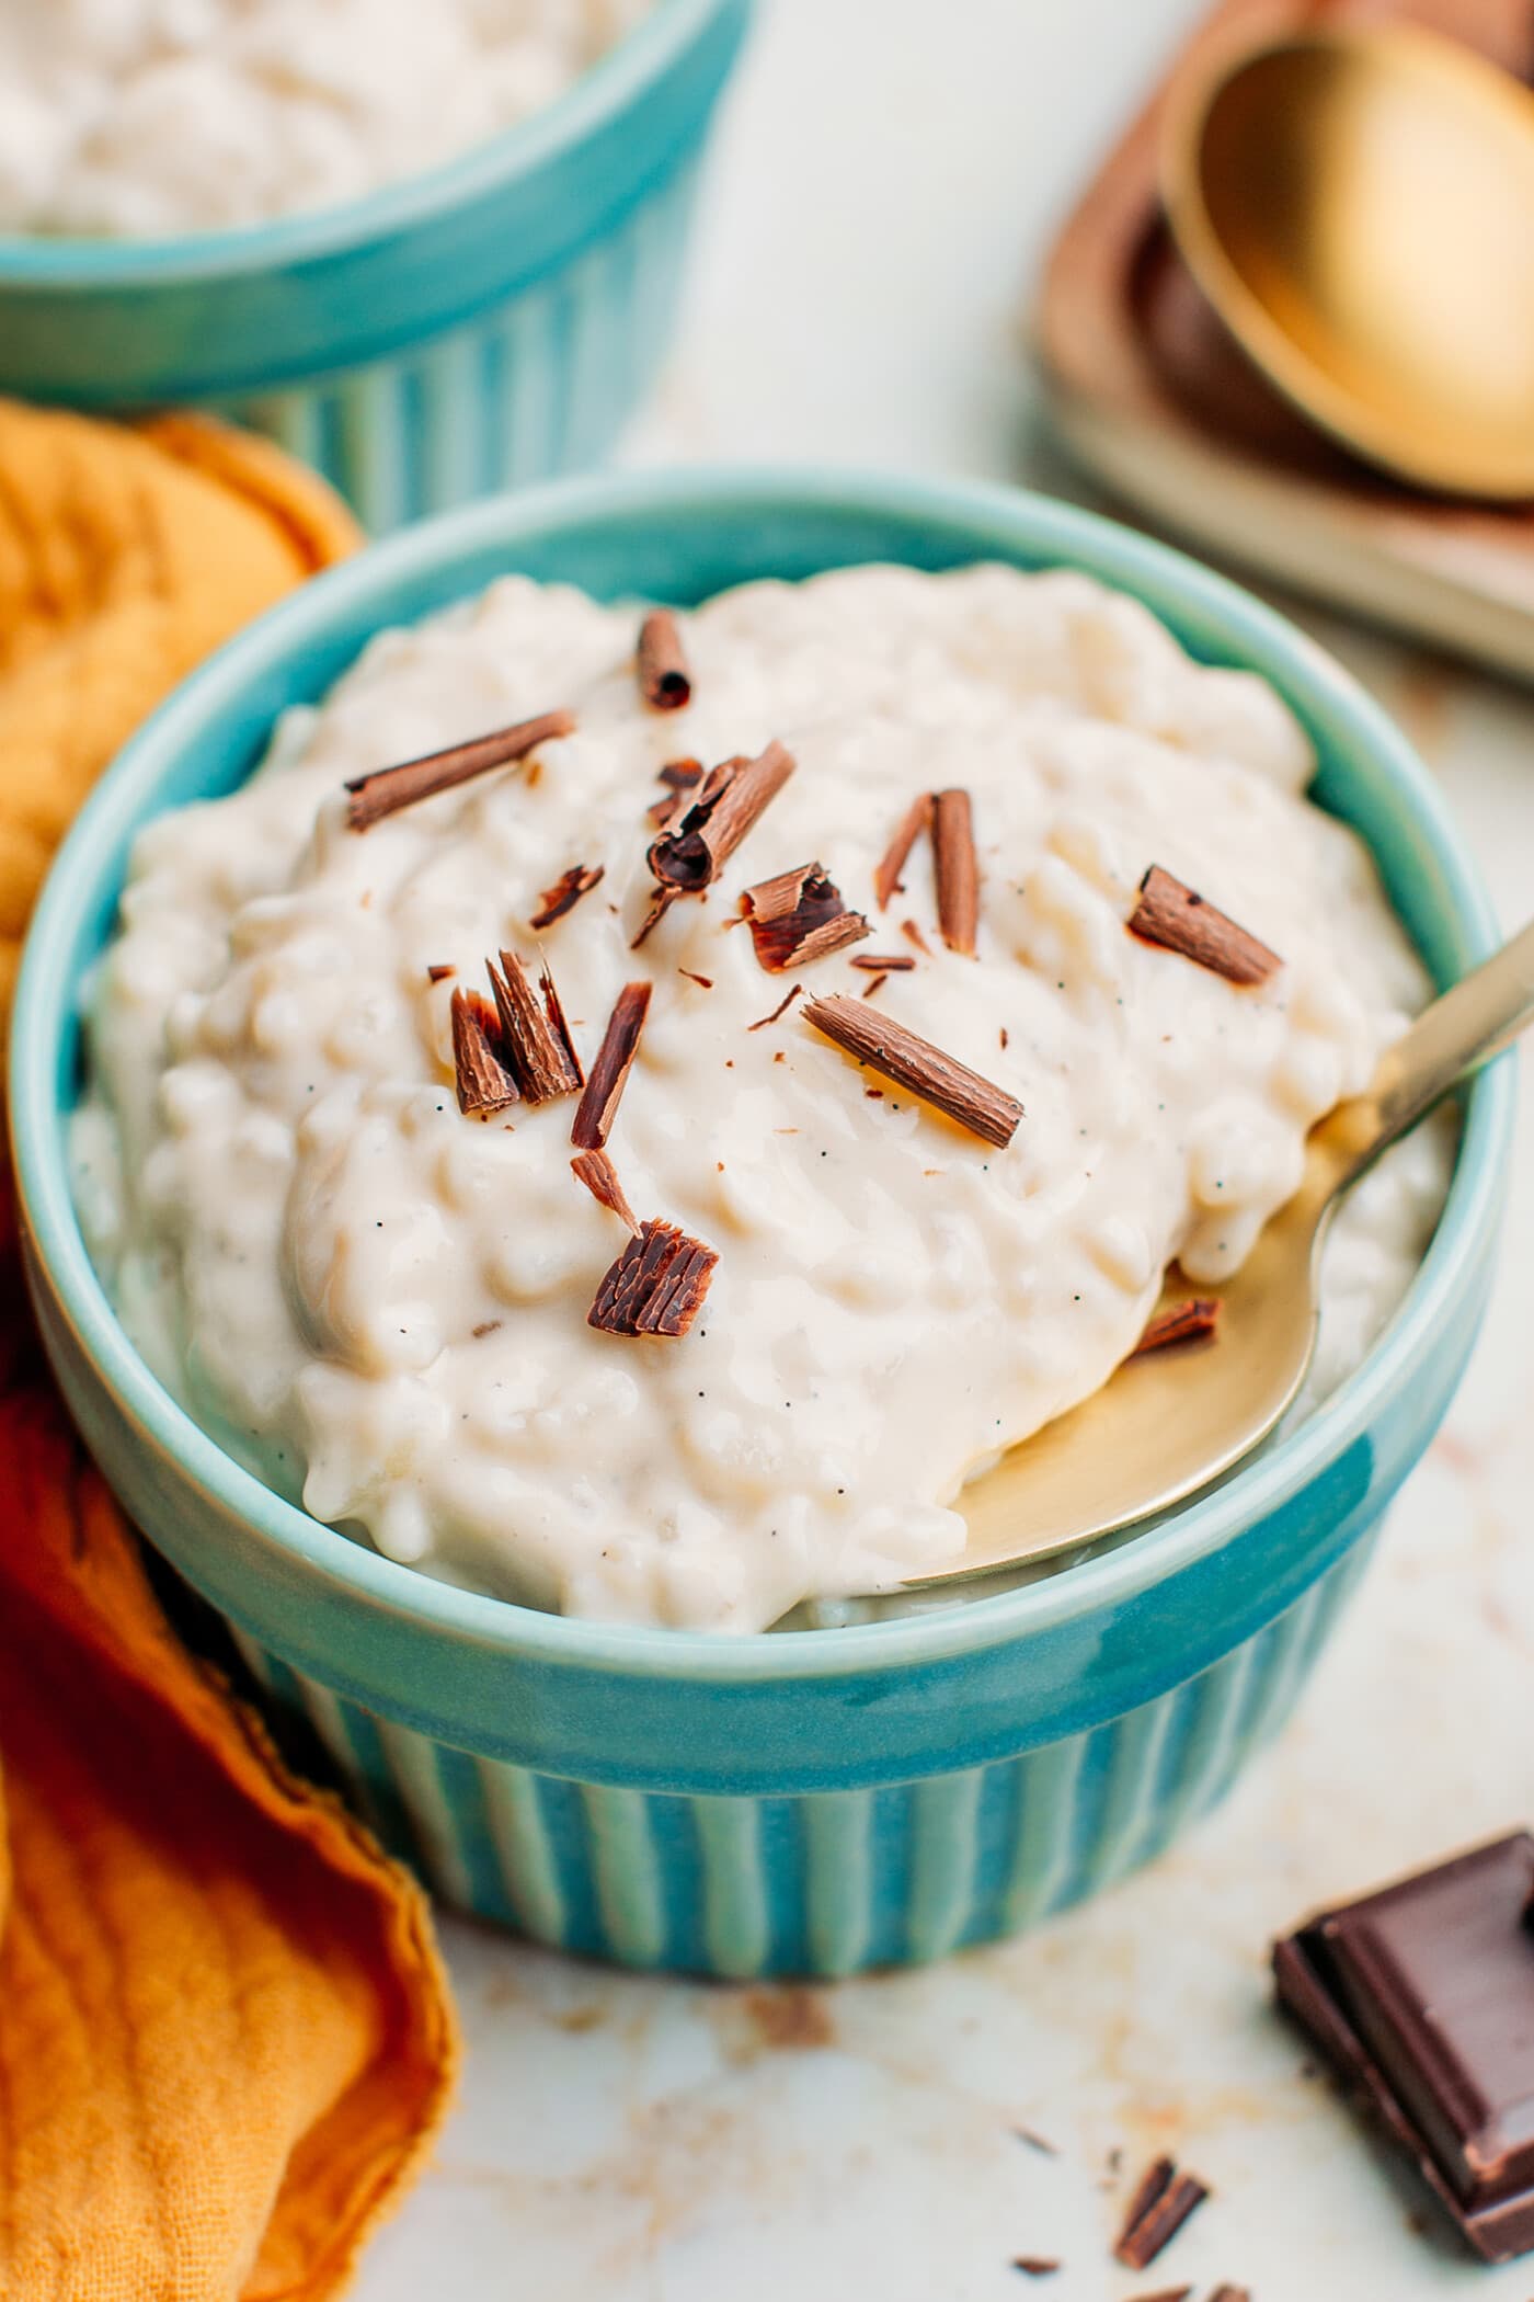
{"label": "blurred background teal ramekin together with its plain rice pudding", "polygon": [[373,529],[603,460],[750,0],[0,0],[0,391],[202,407]]}

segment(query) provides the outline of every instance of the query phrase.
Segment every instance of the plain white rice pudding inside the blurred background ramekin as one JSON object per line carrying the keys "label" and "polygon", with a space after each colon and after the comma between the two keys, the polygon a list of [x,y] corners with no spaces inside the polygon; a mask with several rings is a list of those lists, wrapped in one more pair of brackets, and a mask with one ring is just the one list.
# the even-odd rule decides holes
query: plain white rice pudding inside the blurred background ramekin
{"label": "plain white rice pudding inside the blurred background ramekin", "polygon": [[552,104],[653,0],[0,0],[0,230],[329,207]]}

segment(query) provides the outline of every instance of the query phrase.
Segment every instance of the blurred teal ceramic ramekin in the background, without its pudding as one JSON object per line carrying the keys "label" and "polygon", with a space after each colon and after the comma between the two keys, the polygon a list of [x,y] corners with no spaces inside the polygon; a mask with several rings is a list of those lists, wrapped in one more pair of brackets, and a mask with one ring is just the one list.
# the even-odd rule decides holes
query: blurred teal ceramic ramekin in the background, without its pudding
{"label": "blurred teal ceramic ramekin in the background, without its pudding", "polygon": [[658,0],[547,110],[310,216],[0,237],[0,391],[251,424],[379,534],[586,470],[669,341],[747,18],[750,0]]}

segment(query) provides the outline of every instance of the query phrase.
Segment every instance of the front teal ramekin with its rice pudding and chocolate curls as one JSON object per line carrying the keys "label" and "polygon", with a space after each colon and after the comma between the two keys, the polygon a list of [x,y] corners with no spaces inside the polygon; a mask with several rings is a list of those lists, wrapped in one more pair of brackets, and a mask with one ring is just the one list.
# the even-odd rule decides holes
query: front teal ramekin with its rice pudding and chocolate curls
{"label": "front teal ramekin with its rice pudding and chocolate curls", "polygon": [[1286,1717],[1470,1351],[1506,1077],[1359,1188],[1258,1457],[902,1581],[1490,942],[1364,693],[1106,520],[837,474],[476,506],[241,635],[71,833],[11,1047],[44,1337],[448,1901],[639,1966],[936,1957]]}

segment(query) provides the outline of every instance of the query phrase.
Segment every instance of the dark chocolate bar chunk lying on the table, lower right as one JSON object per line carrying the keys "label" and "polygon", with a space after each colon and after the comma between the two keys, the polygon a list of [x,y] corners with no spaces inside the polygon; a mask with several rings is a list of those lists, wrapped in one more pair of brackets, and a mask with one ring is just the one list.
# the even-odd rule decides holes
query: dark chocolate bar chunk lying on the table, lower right
{"label": "dark chocolate bar chunk lying on the table, lower right", "polygon": [[1279,2003],[1488,2263],[1534,2247],[1534,1837],[1313,1918]]}

